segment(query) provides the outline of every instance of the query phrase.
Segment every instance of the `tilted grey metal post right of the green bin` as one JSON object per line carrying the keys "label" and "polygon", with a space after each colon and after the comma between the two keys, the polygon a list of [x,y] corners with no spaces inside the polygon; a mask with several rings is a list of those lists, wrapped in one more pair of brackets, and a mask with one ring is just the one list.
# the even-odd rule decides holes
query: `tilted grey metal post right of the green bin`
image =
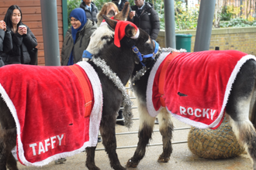
{"label": "tilted grey metal post right of the green bin", "polygon": [[201,0],[194,52],[209,50],[216,0]]}

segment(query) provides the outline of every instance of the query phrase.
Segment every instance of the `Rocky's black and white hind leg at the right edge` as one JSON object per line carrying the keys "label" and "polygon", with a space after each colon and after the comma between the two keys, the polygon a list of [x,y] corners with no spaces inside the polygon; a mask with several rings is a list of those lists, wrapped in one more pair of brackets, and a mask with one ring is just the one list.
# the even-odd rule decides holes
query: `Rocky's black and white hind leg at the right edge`
{"label": "Rocky's black and white hind leg at the right edge", "polygon": [[250,113],[254,105],[251,100],[254,100],[255,76],[256,62],[249,60],[237,74],[226,107],[230,125],[237,140],[244,145],[247,153],[251,156],[254,170],[256,170],[256,132],[249,120],[249,115],[256,114]]}

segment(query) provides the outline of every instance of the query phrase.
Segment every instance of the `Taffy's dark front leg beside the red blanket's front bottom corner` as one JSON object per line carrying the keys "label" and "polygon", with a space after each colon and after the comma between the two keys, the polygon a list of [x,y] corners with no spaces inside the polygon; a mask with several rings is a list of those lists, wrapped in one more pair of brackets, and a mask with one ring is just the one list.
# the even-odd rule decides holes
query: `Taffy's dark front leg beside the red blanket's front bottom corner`
{"label": "Taffy's dark front leg beside the red blanket's front bottom corner", "polygon": [[86,148],[86,155],[87,155],[87,158],[86,158],[86,167],[89,169],[89,170],[99,170],[100,168],[98,168],[96,165],[95,165],[95,148],[96,147],[88,147]]}

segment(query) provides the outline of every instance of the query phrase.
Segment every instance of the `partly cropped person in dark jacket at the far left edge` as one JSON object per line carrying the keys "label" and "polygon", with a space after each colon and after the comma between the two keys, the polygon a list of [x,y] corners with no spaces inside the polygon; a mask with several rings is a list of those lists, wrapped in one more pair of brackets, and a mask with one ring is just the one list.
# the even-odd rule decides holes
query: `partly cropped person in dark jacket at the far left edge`
{"label": "partly cropped person in dark jacket at the far left edge", "polygon": [[4,21],[0,21],[0,67],[5,66],[2,61],[2,53],[8,53],[12,50],[12,35],[11,31],[6,29]]}

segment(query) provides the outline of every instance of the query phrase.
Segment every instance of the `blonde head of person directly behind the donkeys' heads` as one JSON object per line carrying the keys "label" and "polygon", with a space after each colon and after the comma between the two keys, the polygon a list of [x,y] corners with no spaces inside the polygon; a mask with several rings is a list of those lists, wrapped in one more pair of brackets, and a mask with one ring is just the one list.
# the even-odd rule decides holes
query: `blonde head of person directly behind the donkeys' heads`
{"label": "blonde head of person directly behind the donkeys' heads", "polygon": [[119,12],[117,6],[112,2],[107,2],[102,6],[102,10],[99,12],[99,15],[97,15],[97,25],[98,27],[103,21],[102,15],[116,15]]}

